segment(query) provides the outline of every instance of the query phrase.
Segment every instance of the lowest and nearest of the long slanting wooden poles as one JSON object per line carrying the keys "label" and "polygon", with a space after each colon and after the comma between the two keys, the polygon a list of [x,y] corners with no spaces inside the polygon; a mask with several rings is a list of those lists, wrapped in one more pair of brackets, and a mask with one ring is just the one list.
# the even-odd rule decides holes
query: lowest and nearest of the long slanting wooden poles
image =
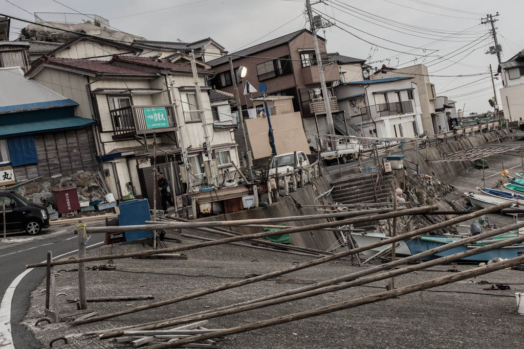
{"label": "lowest and nearest of the long slanting wooden poles", "polygon": [[335,311],[355,308],[355,307],[359,307],[359,306],[366,305],[369,303],[375,303],[381,300],[396,298],[402,295],[407,295],[407,294],[425,290],[428,288],[451,284],[451,283],[454,283],[460,280],[495,272],[495,271],[498,271],[504,268],[508,268],[508,267],[512,267],[512,266],[515,266],[521,263],[524,263],[524,256],[510,258],[509,260],[497,262],[494,264],[484,265],[481,267],[470,269],[465,272],[455,273],[453,275],[431,279],[423,283],[401,287],[395,290],[379,292],[378,294],[374,294],[374,295],[370,295],[366,297],[361,297],[361,298],[357,298],[353,300],[347,300],[347,301],[340,302],[340,303],[334,303],[328,306],[315,308],[315,309],[303,311],[300,313],[293,313],[293,314],[289,314],[287,316],[282,316],[279,318],[249,323],[246,325],[241,325],[241,326],[227,329],[227,330],[220,330],[220,331],[215,331],[211,333],[196,335],[196,336],[176,340],[173,342],[169,342],[166,344],[152,345],[150,346],[150,349],[172,348],[172,347],[182,346],[185,344],[195,343],[195,342],[208,340],[212,338],[213,339],[221,338],[221,337],[236,334],[236,333],[243,333],[247,331],[258,330],[258,329],[262,329],[266,327],[271,327],[274,325],[279,325],[282,323],[288,323],[288,322],[298,321],[302,319],[308,319],[308,318],[320,316],[323,314],[329,314]]}

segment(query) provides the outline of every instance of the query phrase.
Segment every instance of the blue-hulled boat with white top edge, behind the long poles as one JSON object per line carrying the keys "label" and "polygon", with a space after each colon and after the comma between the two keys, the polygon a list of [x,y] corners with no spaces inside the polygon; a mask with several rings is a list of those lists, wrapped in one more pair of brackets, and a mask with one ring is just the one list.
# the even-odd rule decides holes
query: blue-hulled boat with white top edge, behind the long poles
{"label": "blue-hulled boat with white top edge, behind the long poles", "polygon": [[[507,238],[507,237],[503,237],[503,238]],[[489,239],[489,240],[493,240],[493,242],[500,241],[499,239]],[[440,247],[444,244],[450,243],[452,241],[455,241],[455,239],[434,237],[433,235],[421,235],[420,237],[417,237],[417,238],[404,240],[404,242],[406,242],[406,244],[408,245],[411,254],[425,252],[425,251],[434,249],[436,247]],[[449,256],[455,253],[465,252],[465,251],[475,249],[475,248],[485,245],[487,243],[486,241],[487,240],[479,241],[479,243],[475,243],[475,244],[453,247],[453,249],[443,251],[440,253],[435,253],[432,256],[421,258],[421,260],[430,261],[436,258]],[[489,242],[489,243],[493,243],[493,242]],[[514,245],[510,245],[506,247],[501,247],[500,249],[496,249],[493,251],[487,251],[487,252],[479,253],[473,256],[465,257],[461,261],[479,263],[479,262],[487,262],[497,257],[504,258],[504,259],[514,258],[518,256],[519,252],[524,253],[524,244],[514,244]]]}

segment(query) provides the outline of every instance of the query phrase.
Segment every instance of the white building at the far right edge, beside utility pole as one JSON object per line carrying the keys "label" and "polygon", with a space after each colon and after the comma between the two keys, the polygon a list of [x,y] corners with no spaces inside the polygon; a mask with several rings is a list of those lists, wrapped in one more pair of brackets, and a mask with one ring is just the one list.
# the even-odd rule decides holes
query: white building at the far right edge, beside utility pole
{"label": "white building at the far right edge, beside utility pole", "polygon": [[503,88],[500,89],[500,101],[504,110],[504,117],[509,121],[524,118],[524,50],[520,51],[508,61],[498,65],[498,72],[502,76]]}

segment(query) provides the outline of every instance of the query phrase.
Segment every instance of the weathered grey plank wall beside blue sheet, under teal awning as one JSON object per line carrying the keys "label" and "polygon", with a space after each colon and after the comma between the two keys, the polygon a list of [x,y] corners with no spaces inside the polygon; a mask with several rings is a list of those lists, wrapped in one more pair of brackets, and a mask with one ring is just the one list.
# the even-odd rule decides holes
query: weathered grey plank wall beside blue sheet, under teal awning
{"label": "weathered grey plank wall beside blue sheet, under teal awning", "polygon": [[18,182],[39,176],[97,171],[96,149],[90,128],[35,135],[38,164],[15,167]]}

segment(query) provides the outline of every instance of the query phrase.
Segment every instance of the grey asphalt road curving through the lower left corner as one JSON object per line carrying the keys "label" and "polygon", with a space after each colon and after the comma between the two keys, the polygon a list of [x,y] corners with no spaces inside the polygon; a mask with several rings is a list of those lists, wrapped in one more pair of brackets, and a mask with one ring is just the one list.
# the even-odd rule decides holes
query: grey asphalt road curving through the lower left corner
{"label": "grey asphalt road curving through the lower left corner", "polygon": [[[43,230],[41,234],[46,234]],[[20,235],[20,238],[24,238]],[[48,239],[15,244],[0,250],[0,299],[3,298],[7,287],[22,272],[28,263],[39,263],[46,259],[47,251],[52,251],[53,256],[58,256],[78,249],[77,239],[70,239],[71,233],[50,236]],[[67,240],[70,239],[70,240]],[[104,234],[93,234],[88,246],[104,240]],[[29,308],[30,292],[40,285],[45,277],[45,268],[36,268],[27,274],[18,284],[13,296],[11,308],[11,329],[15,348],[32,349],[41,348],[32,333],[25,325],[20,324]]]}

